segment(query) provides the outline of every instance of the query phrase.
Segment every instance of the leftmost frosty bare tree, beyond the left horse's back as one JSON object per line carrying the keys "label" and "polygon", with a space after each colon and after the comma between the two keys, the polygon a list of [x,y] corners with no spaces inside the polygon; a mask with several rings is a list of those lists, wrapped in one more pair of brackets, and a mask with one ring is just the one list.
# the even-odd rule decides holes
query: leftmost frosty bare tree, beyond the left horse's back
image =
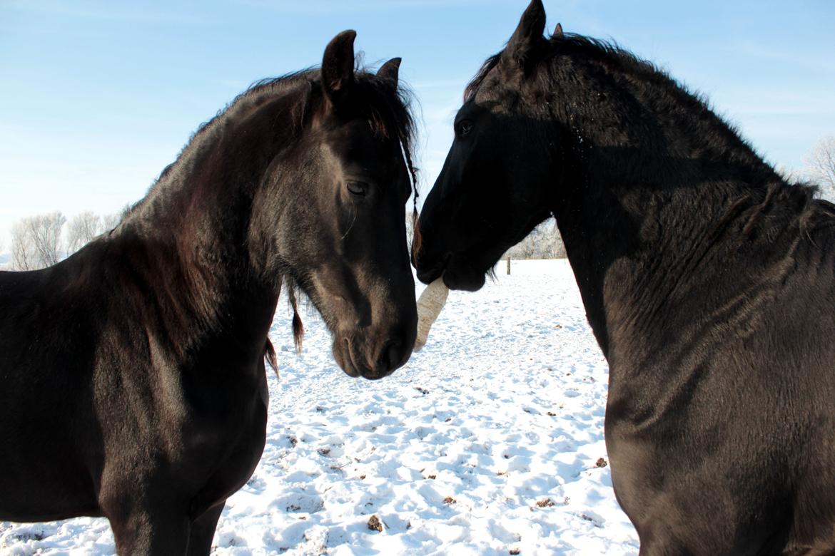
{"label": "leftmost frosty bare tree, beyond the left horse's back", "polygon": [[61,259],[62,213],[23,218],[12,228],[12,263],[18,270],[52,266]]}

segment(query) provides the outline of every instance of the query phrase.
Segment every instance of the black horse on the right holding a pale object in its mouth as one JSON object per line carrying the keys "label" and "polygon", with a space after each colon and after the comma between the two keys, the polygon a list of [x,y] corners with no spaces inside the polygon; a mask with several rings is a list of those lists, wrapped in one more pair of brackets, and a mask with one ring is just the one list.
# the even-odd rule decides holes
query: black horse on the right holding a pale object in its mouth
{"label": "black horse on the right holding a pale object in its mouth", "polygon": [[640,553],[833,553],[835,207],[658,69],[544,21],[534,0],[466,90],[418,278],[481,288],[553,215]]}

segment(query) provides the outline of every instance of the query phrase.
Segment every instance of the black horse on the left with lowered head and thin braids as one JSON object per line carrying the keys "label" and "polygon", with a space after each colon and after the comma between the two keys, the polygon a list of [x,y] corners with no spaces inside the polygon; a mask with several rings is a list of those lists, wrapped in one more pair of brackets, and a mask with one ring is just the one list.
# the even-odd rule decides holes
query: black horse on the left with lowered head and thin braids
{"label": "black horse on the left with lowered head and thin braids", "polygon": [[355,72],[355,35],[241,94],[118,228],[0,273],[0,520],[103,515],[119,553],[209,553],[264,448],[282,283],[349,375],[407,360],[412,119],[399,58]]}

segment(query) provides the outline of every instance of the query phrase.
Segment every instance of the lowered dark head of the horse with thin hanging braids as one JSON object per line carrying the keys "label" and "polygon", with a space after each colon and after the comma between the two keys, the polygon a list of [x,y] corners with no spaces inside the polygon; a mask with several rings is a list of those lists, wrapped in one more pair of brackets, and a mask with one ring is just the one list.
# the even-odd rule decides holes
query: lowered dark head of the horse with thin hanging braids
{"label": "lowered dark head of the horse with thin hanging braids", "polygon": [[267,174],[270,209],[254,218],[271,222],[256,222],[254,235],[294,305],[299,288],[321,313],[342,369],[382,378],[407,361],[417,326],[404,220],[412,119],[397,90],[400,59],[356,71],[355,36],[337,35],[311,73],[304,129],[280,154],[293,163]]}

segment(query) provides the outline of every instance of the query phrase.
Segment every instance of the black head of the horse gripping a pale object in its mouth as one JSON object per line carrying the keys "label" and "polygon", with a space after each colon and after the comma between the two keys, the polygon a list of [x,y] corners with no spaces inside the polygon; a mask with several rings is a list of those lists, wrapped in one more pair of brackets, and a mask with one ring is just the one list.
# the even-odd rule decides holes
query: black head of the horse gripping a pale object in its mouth
{"label": "black head of the horse gripping a pale object in its mouth", "polygon": [[465,93],[453,145],[418,221],[422,241],[412,246],[425,283],[443,274],[449,288],[478,290],[502,253],[550,215],[558,170],[548,162],[550,123],[532,86],[544,23],[534,0]]}

